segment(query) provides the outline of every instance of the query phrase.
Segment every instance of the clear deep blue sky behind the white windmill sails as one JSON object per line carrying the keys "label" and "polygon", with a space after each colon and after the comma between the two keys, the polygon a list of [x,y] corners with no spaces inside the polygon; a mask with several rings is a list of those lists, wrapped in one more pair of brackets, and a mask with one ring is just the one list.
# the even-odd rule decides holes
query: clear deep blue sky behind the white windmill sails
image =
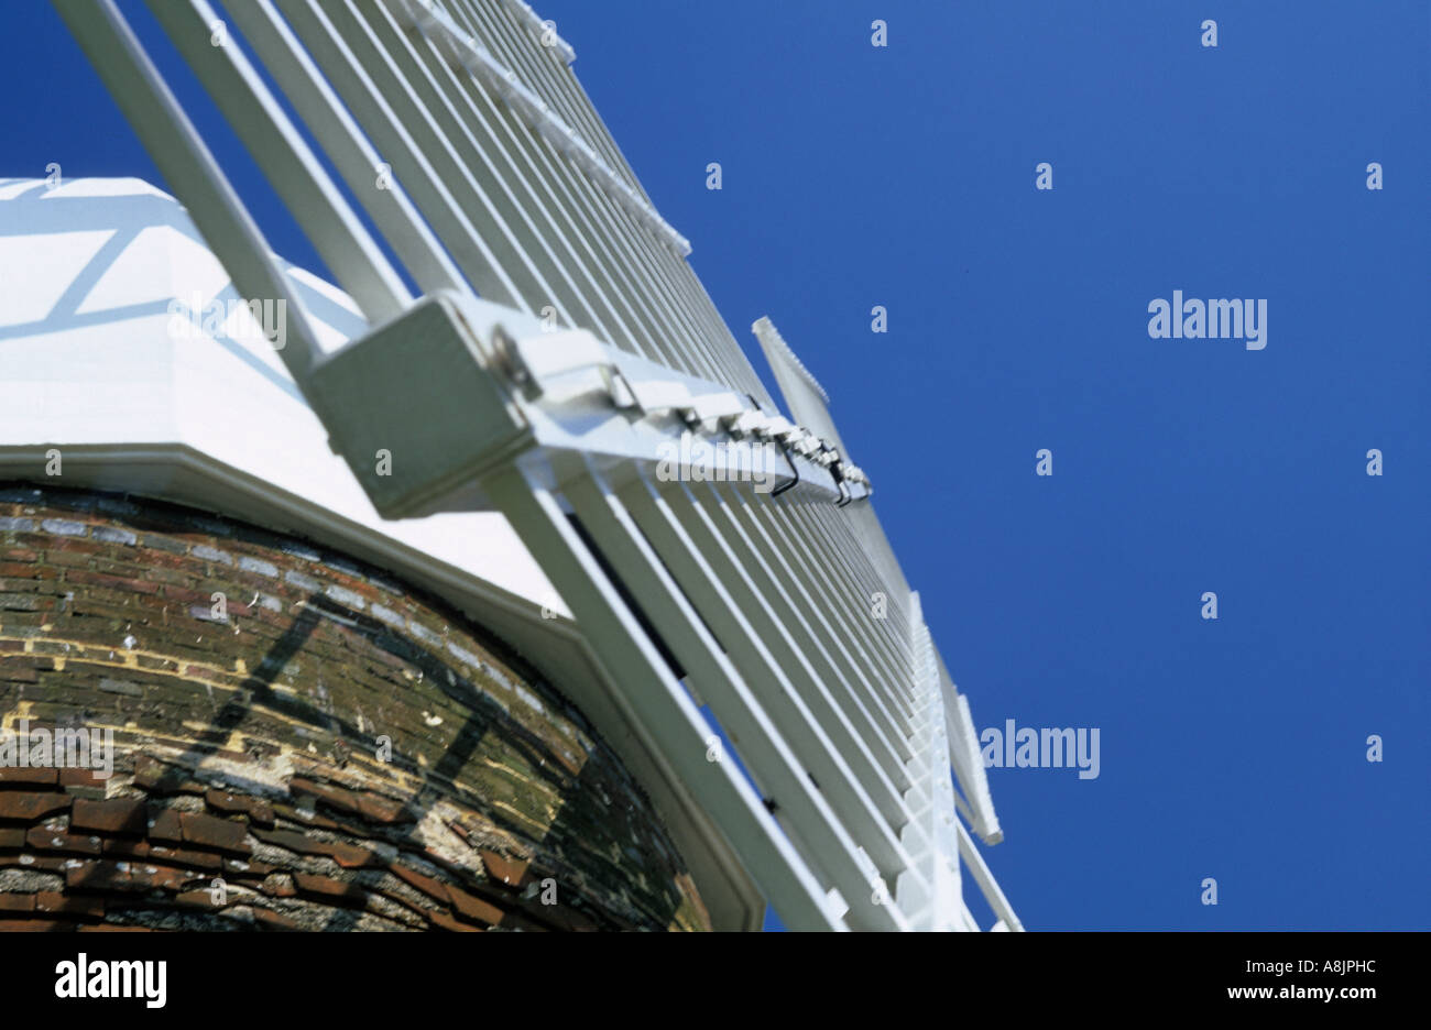
{"label": "clear deep blue sky behind the white windmill sails", "polygon": [[[737,339],[829,391],[976,722],[1099,728],[1096,780],[989,771],[1025,923],[1431,926],[1431,4],[535,6]],[[0,175],[156,180],[7,16]],[[1151,339],[1173,290],[1266,348]]]}

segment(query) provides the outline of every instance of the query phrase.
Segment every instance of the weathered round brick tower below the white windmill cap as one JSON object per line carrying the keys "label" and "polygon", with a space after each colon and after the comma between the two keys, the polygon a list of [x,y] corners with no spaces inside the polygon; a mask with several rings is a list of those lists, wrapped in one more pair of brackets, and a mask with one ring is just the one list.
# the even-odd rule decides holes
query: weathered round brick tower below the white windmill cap
{"label": "weathered round brick tower below the white windmill cap", "polygon": [[0,489],[0,712],[13,744],[84,730],[96,751],[0,768],[7,928],[710,924],[561,694],[441,601],[290,536]]}

